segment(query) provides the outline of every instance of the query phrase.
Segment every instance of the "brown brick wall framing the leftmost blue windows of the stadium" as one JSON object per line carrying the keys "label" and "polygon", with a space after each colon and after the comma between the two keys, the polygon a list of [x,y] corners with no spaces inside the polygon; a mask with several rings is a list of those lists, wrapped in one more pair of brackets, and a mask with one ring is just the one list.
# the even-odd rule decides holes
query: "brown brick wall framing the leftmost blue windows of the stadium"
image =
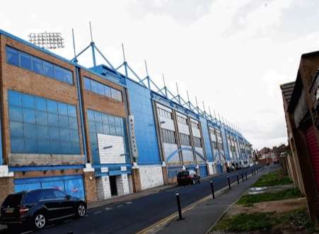
{"label": "brown brick wall framing the leftmost blue windows of the stadium", "polygon": [[[28,93],[31,95],[37,95],[43,98],[50,98],[52,100],[57,100],[63,103],[69,103],[71,105],[76,105],[78,113],[78,126],[81,126],[79,119],[79,100],[76,90],[76,82],[74,85],[64,83],[61,81],[48,78],[39,74],[35,74],[33,71],[28,71],[26,69],[13,66],[6,63],[6,45],[19,49],[28,54],[33,54],[35,57],[47,60],[53,64],[69,69],[73,72],[73,77],[76,77],[74,66],[67,62],[57,59],[45,52],[33,49],[28,45],[23,45],[20,42],[11,40],[10,38],[0,35],[1,40],[1,80],[0,86],[1,90],[1,117],[2,117],[2,127],[3,127],[3,150],[4,150],[4,161],[7,163],[8,153],[11,152],[10,146],[10,129],[8,122],[8,92],[7,90],[17,90],[22,93]],[[75,79],[74,79],[75,81]],[[81,142],[81,131],[79,131],[80,142]],[[81,152],[83,153],[82,144]]]}

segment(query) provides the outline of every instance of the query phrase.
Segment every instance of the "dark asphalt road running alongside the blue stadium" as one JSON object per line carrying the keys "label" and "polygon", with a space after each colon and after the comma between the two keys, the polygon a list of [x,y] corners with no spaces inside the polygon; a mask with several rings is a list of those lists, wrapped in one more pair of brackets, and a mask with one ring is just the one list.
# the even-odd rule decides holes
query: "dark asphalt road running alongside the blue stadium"
{"label": "dark asphalt road running alongside the blue stadium", "polygon": [[[251,173],[252,170],[253,168],[248,168],[247,172]],[[241,172],[242,170],[239,170],[213,177],[211,180],[214,182],[215,191],[228,186],[227,176],[231,177],[231,182],[236,182],[236,175]],[[60,221],[37,233],[137,233],[177,211],[176,192],[180,194],[181,205],[184,208],[211,194],[211,187],[209,180],[197,185],[170,187],[132,201],[90,209],[84,218]],[[32,233],[33,230],[21,232]],[[8,231],[4,230],[1,233]]]}

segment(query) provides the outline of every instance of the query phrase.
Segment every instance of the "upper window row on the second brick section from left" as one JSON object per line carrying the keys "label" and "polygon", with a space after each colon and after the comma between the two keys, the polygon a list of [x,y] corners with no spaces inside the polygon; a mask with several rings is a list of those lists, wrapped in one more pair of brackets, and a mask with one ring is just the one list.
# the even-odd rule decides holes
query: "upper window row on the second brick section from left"
{"label": "upper window row on the second brick section from left", "polygon": [[93,93],[122,102],[121,91],[111,88],[110,86],[106,86],[103,83],[93,81],[91,78],[84,77],[84,88],[88,91],[92,91]]}

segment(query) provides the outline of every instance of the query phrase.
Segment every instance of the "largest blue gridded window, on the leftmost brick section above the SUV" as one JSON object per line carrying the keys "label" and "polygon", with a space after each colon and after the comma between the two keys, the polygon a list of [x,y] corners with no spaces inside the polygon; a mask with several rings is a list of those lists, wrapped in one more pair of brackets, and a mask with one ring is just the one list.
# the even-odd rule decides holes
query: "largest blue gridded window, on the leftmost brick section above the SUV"
{"label": "largest blue gridded window, on the leftmost brick section above the SUV", "polygon": [[76,107],[8,91],[12,153],[79,154]]}

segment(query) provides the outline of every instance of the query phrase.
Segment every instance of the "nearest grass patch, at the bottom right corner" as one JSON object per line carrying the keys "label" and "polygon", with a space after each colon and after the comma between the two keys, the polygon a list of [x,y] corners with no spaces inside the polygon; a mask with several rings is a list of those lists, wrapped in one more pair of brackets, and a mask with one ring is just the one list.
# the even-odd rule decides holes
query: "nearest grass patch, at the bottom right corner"
{"label": "nearest grass patch, at the bottom right corner", "polygon": [[306,209],[298,209],[285,213],[240,213],[235,216],[223,216],[213,230],[230,232],[248,232],[270,228],[304,227],[311,233],[315,226],[308,218]]}

